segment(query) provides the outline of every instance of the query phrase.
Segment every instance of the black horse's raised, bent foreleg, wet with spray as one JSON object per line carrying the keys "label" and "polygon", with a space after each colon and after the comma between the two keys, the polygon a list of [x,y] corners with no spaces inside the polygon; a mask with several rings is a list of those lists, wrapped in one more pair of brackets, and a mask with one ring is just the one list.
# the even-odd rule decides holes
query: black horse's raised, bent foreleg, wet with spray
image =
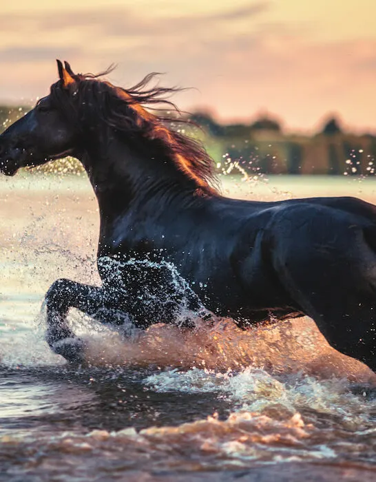
{"label": "black horse's raised, bent foreleg, wet with spray", "polygon": [[83,342],[67,325],[69,308],[78,308],[87,315],[94,315],[102,306],[105,291],[96,286],[71,280],[56,280],[45,295],[47,305],[46,341],[50,348],[69,362],[82,361]]}

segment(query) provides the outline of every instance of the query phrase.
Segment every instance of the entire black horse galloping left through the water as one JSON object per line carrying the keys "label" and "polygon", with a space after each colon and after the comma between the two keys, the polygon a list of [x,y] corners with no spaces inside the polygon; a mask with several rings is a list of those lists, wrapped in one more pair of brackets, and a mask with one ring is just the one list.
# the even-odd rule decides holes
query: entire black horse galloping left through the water
{"label": "entire black horse galloping left through the water", "polygon": [[50,94],[0,136],[4,174],[74,156],[98,198],[103,285],[52,284],[46,339],[55,353],[81,360],[66,321],[72,306],[141,328],[217,315],[245,328],[306,314],[333,347],[376,369],[375,206],[224,198],[205,150],[143,107],[174,89],[149,87],[147,76],[125,90],[58,67]]}

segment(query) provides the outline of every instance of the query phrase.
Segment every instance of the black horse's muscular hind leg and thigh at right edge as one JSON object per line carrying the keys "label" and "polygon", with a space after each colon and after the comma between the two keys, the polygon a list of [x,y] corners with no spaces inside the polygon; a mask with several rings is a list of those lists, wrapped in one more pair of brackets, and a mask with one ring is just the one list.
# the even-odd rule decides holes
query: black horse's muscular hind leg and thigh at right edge
{"label": "black horse's muscular hind leg and thigh at right edge", "polygon": [[329,344],[376,370],[376,255],[361,229],[333,231],[295,229],[281,237],[275,269]]}

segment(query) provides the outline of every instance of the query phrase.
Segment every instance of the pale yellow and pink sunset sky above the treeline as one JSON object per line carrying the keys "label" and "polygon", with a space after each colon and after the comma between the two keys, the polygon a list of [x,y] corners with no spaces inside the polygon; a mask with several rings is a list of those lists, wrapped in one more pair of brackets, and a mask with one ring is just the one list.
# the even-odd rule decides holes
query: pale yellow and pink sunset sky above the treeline
{"label": "pale yellow and pink sunset sky above the treeline", "polygon": [[56,58],[75,72],[115,63],[107,78],[123,87],[163,72],[194,87],[179,107],[223,122],[269,114],[313,132],[335,114],[376,133],[375,0],[3,1],[0,102],[47,94]]}

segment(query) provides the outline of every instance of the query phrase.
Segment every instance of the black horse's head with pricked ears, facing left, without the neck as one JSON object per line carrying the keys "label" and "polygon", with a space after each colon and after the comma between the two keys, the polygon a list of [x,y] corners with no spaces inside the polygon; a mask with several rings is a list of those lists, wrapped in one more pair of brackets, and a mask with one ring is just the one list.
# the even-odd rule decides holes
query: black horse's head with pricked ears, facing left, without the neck
{"label": "black horse's head with pricked ears, facing left, without the neck", "polygon": [[56,102],[56,95],[66,97],[69,103],[74,98],[79,76],[68,63],[65,62],[65,67],[61,61],[57,64],[60,80],[54,84],[54,95],[41,98],[34,109],[0,136],[0,172],[7,176],[16,174],[20,167],[37,166],[74,154],[77,129],[61,109],[61,102]]}

